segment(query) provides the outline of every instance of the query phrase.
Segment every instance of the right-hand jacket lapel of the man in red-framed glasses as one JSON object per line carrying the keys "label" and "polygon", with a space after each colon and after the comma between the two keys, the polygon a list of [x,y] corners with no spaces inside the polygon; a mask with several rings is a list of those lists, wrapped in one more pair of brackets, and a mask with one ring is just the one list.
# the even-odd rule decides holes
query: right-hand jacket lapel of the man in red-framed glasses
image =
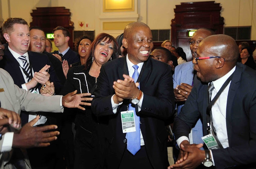
{"label": "right-hand jacket lapel of the man in red-framed glasses", "polygon": [[226,125],[227,125],[227,134],[228,134],[228,142],[230,145],[231,142],[231,133],[232,133],[232,121],[231,121],[231,116],[232,116],[232,103],[234,100],[234,96],[237,93],[237,89],[240,85],[240,80],[241,80],[241,74],[242,74],[242,68],[237,64],[236,70],[234,71],[234,75],[232,77],[229,91],[228,91],[228,99],[227,99],[227,108],[226,108]]}

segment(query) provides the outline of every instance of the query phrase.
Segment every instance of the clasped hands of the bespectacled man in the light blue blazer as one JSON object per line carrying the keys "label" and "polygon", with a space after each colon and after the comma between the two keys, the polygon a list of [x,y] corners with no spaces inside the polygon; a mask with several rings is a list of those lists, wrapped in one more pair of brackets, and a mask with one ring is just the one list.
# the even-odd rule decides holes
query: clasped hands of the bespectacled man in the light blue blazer
{"label": "clasped hands of the bespectacled man in the light blue blazer", "polygon": [[186,101],[192,88],[193,87],[187,83],[181,83],[181,85],[177,85],[176,88],[173,89],[175,101]]}

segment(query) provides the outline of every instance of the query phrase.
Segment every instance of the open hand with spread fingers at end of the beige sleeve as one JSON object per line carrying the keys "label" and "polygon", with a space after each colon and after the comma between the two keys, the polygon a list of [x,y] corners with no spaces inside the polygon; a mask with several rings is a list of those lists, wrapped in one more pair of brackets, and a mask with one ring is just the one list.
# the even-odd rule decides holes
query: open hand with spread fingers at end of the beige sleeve
{"label": "open hand with spread fingers at end of the beige sleeve", "polygon": [[88,102],[83,102],[83,101],[91,101],[93,98],[91,97],[85,97],[85,96],[91,96],[90,93],[81,93],[81,94],[76,94],[77,90],[68,93],[66,96],[62,97],[62,106],[67,107],[67,108],[79,108],[81,110],[85,110],[80,105],[84,106],[91,106],[91,103]]}

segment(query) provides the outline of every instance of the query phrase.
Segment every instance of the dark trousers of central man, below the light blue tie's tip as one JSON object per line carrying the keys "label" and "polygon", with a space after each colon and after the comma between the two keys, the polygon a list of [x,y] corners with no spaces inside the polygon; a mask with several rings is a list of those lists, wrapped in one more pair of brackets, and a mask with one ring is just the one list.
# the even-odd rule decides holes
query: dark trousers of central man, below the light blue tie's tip
{"label": "dark trousers of central man, below the light blue tie's tip", "polygon": [[119,169],[153,169],[148,157],[145,146],[141,146],[141,149],[132,155],[127,148],[125,148]]}

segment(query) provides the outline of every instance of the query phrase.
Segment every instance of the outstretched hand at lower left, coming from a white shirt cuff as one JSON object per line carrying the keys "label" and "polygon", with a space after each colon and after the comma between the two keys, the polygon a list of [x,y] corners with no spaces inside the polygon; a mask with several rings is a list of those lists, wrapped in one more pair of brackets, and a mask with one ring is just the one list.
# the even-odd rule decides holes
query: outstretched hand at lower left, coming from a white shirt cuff
{"label": "outstretched hand at lower left, coming from a white shirt cuff", "polygon": [[25,124],[18,133],[14,133],[13,147],[31,148],[31,147],[46,147],[57,139],[58,131],[45,132],[47,130],[57,129],[56,125],[48,125],[43,127],[32,127],[37,123],[39,115]]}

